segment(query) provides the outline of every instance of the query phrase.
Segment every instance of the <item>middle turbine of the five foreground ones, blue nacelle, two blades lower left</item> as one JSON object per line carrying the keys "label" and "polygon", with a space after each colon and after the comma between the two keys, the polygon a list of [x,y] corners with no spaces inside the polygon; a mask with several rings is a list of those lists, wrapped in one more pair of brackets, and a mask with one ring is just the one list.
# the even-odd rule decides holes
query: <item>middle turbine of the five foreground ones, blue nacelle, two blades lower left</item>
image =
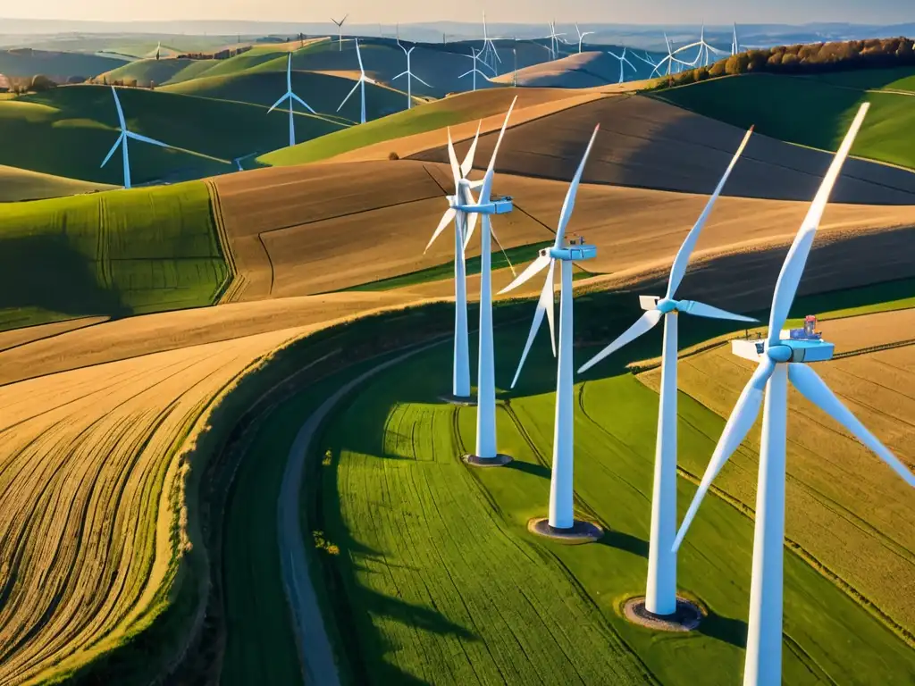
{"label": "middle turbine of the five foreground ones, blue nacelle, two blades lower left", "polygon": [[570,530],[575,526],[575,491],[573,488],[573,411],[575,407],[575,398],[572,392],[572,263],[582,260],[590,260],[597,257],[597,248],[593,245],[585,244],[584,239],[579,242],[572,241],[569,245],[565,244],[565,227],[572,217],[572,210],[575,207],[575,197],[578,191],[578,184],[581,181],[582,172],[585,170],[587,155],[591,152],[594,145],[594,139],[597,138],[597,131],[600,124],[594,127],[594,134],[591,134],[591,140],[588,141],[585,155],[581,158],[575,177],[565,194],[563,209],[559,214],[559,223],[556,226],[556,239],[553,247],[544,249],[540,256],[525,269],[521,275],[511,282],[501,293],[508,293],[521,284],[529,281],[537,273],[542,272],[547,267],[546,282],[544,289],[540,293],[540,300],[537,303],[537,309],[533,315],[533,324],[531,333],[527,337],[527,343],[524,345],[521,361],[518,363],[518,370],[515,372],[514,380],[511,381],[511,388],[514,388],[521,375],[524,360],[533,344],[533,338],[537,335],[537,329],[544,321],[544,315],[550,326],[550,343],[553,346],[553,354],[556,354],[556,345],[554,340],[553,324],[553,275],[556,263],[559,262],[561,273],[561,290],[559,295],[559,359],[556,371],[556,410],[553,434],[553,471],[550,477],[550,512],[548,523],[550,527],[558,530]]}

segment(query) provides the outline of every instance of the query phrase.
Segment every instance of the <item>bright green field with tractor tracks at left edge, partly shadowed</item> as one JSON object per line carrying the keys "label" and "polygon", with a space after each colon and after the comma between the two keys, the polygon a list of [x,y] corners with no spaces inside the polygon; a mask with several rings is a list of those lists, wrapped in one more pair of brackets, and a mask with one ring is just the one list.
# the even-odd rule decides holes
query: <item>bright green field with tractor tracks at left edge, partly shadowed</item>
{"label": "bright green field with tractor tracks at left edge, partly shadowed", "polygon": [[210,305],[227,278],[203,182],[0,206],[0,330]]}

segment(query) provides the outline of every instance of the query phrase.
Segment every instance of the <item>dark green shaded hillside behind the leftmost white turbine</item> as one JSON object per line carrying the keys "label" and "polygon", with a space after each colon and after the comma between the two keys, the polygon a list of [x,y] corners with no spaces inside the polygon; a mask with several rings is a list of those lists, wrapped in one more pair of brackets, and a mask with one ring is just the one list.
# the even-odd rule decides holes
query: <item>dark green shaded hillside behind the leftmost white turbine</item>
{"label": "dark green shaded hillside behind the leftmost white turbine", "polygon": [[[132,143],[135,184],[163,177],[184,180],[233,171],[231,160],[288,145],[288,114],[163,91],[121,89],[128,127],[179,150]],[[70,86],[0,101],[0,164],[61,177],[120,185],[120,155],[100,168],[118,136],[112,92],[104,86]],[[310,114],[296,119],[305,139],[339,130],[339,123]]]}

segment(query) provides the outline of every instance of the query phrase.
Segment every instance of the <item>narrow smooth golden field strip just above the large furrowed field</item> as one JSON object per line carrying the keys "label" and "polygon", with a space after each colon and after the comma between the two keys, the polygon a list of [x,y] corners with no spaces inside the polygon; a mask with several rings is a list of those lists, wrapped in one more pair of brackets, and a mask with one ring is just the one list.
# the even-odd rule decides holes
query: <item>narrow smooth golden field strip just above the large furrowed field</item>
{"label": "narrow smooth golden field strip just above the large furrowed field", "polygon": [[0,387],[116,359],[332,323],[423,300],[397,291],[335,293],[119,319],[0,351]]}

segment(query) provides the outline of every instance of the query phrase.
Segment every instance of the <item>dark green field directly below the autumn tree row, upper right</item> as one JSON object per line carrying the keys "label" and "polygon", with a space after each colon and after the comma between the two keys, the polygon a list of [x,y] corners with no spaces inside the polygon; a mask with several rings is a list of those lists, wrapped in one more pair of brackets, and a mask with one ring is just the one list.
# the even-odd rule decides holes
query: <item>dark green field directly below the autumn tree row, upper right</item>
{"label": "dark green field directly below the autumn tree row, upper right", "polygon": [[[898,76],[885,78],[911,88],[911,80]],[[867,78],[868,88],[878,77],[876,70],[860,76]],[[760,134],[830,151],[841,143],[858,105],[870,102],[852,155],[915,168],[915,101],[908,95],[864,91],[821,78],[745,74],[666,89],[653,97],[741,128],[755,123]]]}

